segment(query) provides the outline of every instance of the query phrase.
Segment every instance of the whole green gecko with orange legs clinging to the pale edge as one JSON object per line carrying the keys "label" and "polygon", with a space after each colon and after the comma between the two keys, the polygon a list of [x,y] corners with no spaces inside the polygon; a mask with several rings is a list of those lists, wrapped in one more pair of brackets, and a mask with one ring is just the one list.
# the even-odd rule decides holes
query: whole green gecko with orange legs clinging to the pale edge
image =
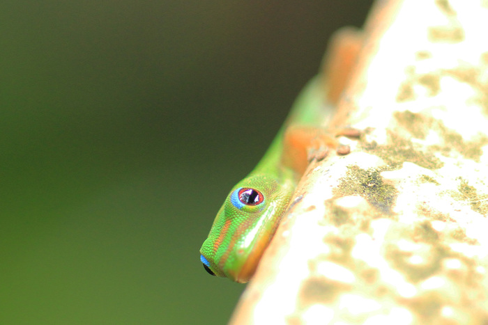
{"label": "whole green gecko with orange legs clinging to the pale edge", "polygon": [[[335,111],[358,42],[358,32],[351,29],[336,34],[326,56],[326,77],[319,75],[305,86],[259,164],[231,189],[200,248],[200,260],[209,274],[249,281],[305,173],[310,152],[324,150],[324,145],[338,153],[349,152],[319,122]],[[335,135],[357,136],[358,131],[342,129]]]}

